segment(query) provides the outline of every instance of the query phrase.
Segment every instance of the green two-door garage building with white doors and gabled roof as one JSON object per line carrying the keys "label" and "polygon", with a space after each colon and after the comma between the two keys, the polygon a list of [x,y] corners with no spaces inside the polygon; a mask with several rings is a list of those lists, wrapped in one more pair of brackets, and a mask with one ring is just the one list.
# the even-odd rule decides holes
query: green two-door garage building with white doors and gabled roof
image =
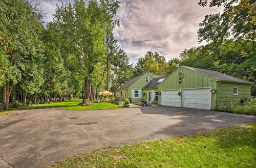
{"label": "green two-door garage building with white doors and gabled roof", "polygon": [[249,97],[251,84],[217,71],[180,66],[157,86],[158,104],[213,109]]}

